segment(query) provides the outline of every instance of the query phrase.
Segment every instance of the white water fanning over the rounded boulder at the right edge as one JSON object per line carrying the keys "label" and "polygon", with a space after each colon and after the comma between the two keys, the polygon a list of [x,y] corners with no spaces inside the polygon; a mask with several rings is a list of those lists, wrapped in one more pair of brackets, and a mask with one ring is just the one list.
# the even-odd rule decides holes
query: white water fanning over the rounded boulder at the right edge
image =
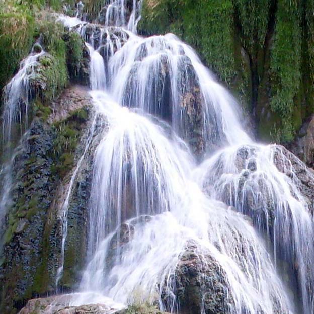
{"label": "white water fanning over the rounded boulder at the right edge", "polygon": [[[313,177],[311,173],[308,176]],[[282,149],[230,147],[205,161],[196,177],[211,197],[249,215],[259,231],[266,231],[275,263],[288,263],[286,271],[295,273],[299,280],[299,286],[291,288],[300,290],[303,312],[312,312],[314,224],[308,202],[297,188],[292,164]]]}

